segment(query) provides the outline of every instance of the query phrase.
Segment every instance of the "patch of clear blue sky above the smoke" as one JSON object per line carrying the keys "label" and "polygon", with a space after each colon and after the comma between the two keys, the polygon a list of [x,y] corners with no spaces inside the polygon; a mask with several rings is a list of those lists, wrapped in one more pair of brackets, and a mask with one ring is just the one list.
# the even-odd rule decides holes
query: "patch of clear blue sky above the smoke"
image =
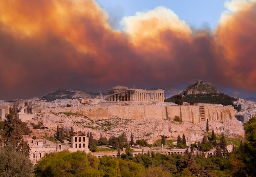
{"label": "patch of clear blue sky above the smoke", "polygon": [[226,0],[97,0],[108,12],[115,28],[122,28],[119,22],[124,16],[133,16],[137,11],[153,10],[164,6],[174,11],[189,26],[216,28],[220,15],[225,11]]}

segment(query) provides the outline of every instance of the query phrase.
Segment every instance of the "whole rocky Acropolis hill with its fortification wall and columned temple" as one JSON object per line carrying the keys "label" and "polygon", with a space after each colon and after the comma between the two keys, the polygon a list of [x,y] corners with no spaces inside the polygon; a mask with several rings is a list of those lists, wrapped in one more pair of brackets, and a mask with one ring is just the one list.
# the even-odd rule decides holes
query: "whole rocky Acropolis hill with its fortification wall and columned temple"
{"label": "whole rocky Acropolis hill with its fortification wall and columned temple", "polygon": [[[100,136],[118,136],[124,132],[128,140],[133,133],[135,140],[144,139],[152,144],[161,135],[175,140],[184,133],[187,142],[193,143],[202,140],[207,119],[209,131],[213,129],[217,134],[244,136],[243,126],[235,118],[234,107],[215,104],[170,105],[163,102],[163,93],[162,89],[147,91],[117,86],[109,89],[108,95],[98,98],[53,102],[18,100],[17,106],[22,108],[20,119],[28,125],[40,123],[53,131],[56,131],[57,125],[66,131],[73,126],[75,132],[92,132],[96,139]],[[7,113],[11,105],[4,104],[1,106],[2,115]],[[175,121],[175,117],[180,122]],[[38,136],[43,138],[45,134]]]}

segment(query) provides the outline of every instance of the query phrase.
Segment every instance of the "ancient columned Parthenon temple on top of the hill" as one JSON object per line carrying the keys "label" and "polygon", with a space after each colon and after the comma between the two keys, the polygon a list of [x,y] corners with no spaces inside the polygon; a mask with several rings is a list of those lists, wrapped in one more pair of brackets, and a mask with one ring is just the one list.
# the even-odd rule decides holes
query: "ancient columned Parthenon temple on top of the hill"
{"label": "ancient columned Parthenon temple on top of the hill", "polygon": [[108,89],[108,101],[131,102],[164,102],[164,90],[128,89],[126,86],[115,86]]}

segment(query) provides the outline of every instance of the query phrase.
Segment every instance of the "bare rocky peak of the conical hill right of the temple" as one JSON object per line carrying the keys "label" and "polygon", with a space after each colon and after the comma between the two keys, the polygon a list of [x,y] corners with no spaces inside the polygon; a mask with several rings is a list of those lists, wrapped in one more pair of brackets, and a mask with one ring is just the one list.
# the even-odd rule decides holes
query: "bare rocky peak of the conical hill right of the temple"
{"label": "bare rocky peak of the conical hill right of the temple", "polygon": [[180,91],[179,94],[182,94],[182,95],[195,94],[195,95],[197,95],[199,93],[214,94],[214,93],[219,93],[219,91],[217,89],[215,89],[213,86],[211,86],[211,84],[209,84],[207,82],[203,82],[202,80],[198,80],[198,82],[196,82],[195,84],[188,86],[185,89],[183,89],[182,91]]}

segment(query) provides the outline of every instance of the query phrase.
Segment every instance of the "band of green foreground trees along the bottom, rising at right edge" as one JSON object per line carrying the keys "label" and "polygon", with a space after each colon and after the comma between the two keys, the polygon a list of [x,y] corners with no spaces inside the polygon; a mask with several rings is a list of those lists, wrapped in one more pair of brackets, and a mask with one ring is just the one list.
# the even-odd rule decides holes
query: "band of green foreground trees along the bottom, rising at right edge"
{"label": "band of green foreground trees along the bottom, rising at right edge", "polygon": [[[35,176],[200,176],[230,177],[256,176],[256,118],[245,125],[246,143],[238,150],[227,153],[224,136],[217,146],[216,155],[206,158],[204,154],[193,156],[187,153],[163,155],[147,152],[132,156],[128,147],[120,157],[97,158],[83,152],[51,153],[36,166]],[[214,135],[211,138],[213,141]],[[207,142],[205,140],[205,142]],[[204,144],[204,142],[202,142]],[[193,150],[193,148],[192,148]]]}

